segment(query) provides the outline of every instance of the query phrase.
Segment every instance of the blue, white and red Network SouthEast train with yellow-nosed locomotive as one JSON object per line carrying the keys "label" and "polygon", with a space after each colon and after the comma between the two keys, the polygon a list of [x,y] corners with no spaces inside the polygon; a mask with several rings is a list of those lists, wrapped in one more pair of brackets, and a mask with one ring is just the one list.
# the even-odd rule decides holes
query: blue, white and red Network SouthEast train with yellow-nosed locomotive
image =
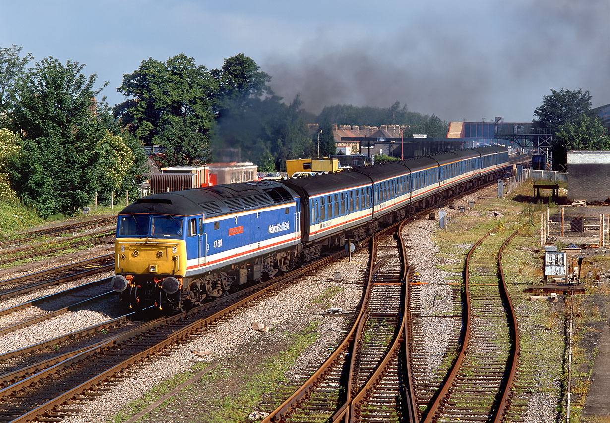
{"label": "blue, white and red Network SouthEast train with yellow-nosed locomotive", "polygon": [[495,181],[508,156],[487,146],[149,195],[118,215],[112,288],[132,308],[184,311]]}

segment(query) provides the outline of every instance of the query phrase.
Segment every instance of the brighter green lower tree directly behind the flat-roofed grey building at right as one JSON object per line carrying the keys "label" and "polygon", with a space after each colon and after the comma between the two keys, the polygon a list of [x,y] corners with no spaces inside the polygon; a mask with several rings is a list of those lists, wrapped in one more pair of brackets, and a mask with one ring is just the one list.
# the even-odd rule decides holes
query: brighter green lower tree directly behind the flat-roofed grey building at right
{"label": "brighter green lower tree directly behind the flat-roofed grey building at right", "polygon": [[553,143],[553,166],[566,170],[570,150],[610,150],[610,136],[595,117],[581,114],[574,122],[560,125]]}

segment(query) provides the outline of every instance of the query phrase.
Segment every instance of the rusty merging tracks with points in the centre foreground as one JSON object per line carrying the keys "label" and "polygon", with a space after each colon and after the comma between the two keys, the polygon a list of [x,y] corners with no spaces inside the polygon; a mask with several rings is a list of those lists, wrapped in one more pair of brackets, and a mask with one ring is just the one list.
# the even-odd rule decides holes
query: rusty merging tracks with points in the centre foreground
{"label": "rusty merging tracks with points in the centre foreground", "polygon": [[373,244],[369,266],[364,299],[350,331],[292,395],[267,404],[275,408],[263,423],[380,421],[401,415],[404,248],[397,251],[393,237],[382,236]]}

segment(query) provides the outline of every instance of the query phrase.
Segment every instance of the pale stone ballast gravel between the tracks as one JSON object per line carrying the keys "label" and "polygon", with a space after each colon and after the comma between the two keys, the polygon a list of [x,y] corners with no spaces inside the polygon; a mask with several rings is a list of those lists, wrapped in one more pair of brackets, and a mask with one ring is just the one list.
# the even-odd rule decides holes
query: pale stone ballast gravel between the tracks
{"label": "pale stone ballast gravel between the tracks", "polygon": [[[478,197],[493,197],[495,192],[495,186],[479,190],[475,194],[467,195],[455,201],[455,209],[445,208],[445,211],[447,211],[450,217],[453,217],[459,214],[458,207],[464,205],[465,215],[493,218],[492,211],[483,213],[469,209],[468,200],[476,201]],[[422,314],[423,322],[426,324],[426,334],[428,335],[426,338],[428,341],[425,344],[425,352],[431,375],[440,366],[440,361],[443,358],[442,352],[447,347],[450,335],[456,333],[459,328],[458,320],[434,317],[442,313],[454,313],[455,306],[449,283],[452,282],[456,275],[453,272],[439,269],[441,259],[437,254],[439,252],[438,247],[434,243],[434,234],[437,231],[438,224],[437,221],[415,220],[415,222],[407,225],[404,231],[404,234],[408,234],[411,243],[414,245],[414,247],[409,248],[407,251],[409,253],[409,262],[415,265],[415,269],[420,273],[420,280],[426,283],[422,284],[419,288],[421,292],[419,311]],[[455,248],[467,251],[470,245],[459,244]],[[98,248],[95,253],[90,255],[96,256],[101,254]],[[326,289],[339,287],[341,291],[329,300],[332,306],[343,308],[345,311],[353,310],[361,298],[361,283],[367,267],[367,258],[368,252],[362,251],[356,253],[351,262],[343,259],[337,264],[332,264],[325,269],[321,269],[317,275],[304,278],[299,283],[282,289],[273,297],[259,300],[249,308],[242,309],[231,317],[212,325],[202,334],[171,349],[167,356],[161,356],[154,361],[148,361],[132,367],[130,369],[132,372],[130,373],[131,377],[113,381],[111,385],[108,385],[110,391],[105,392],[102,396],[96,396],[95,399],[86,400],[76,405],[75,408],[81,408],[83,410],[82,413],[68,416],[62,422],[93,423],[108,421],[113,419],[127,403],[132,400],[141,399],[146,392],[163,380],[167,380],[176,374],[190,371],[195,362],[228,360],[228,358],[236,356],[236,352],[240,350],[256,349],[256,345],[264,339],[271,338],[276,339],[277,342],[287,342],[285,339],[282,339],[279,328],[298,327],[298,325],[304,322],[321,319],[322,322],[318,330],[320,339],[310,345],[289,371],[290,377],[293,379],[303,377],[310,363],[320,361],[323,356],[328,355],[329,348],[335,345],[338,339],[342,338],[342,330],[345,329],[343,327],[344,318],[337,316],[322,317],[319,311],[314,313],[316,307],[312,305],[312,302],[314,302],[318,295],[325,292]],[[443,264],[450,264],[448,259],[445,258],[444,260]],[[54,260],[52,266],[59,266],[58,262],[59,259]],[[48,264],[51,267],[51,262]],[[24,269],[21,269],[21,271],[23,272]],[[332,280],[335,272],[341,273],[342,280]],[[14,275],[18,274],[16,272],[13,273]],[[5,274],[10,273],[5,272]],[[103,276],[99,275],[97,278],[101,277]],[[6,277],[0,273],[0,278]],[[49,289],[57,289],[57,287]],[[37,293],[36,295],[39,294]],[[23,300],[20,298],[20,301]],[[5,308],[9,306],[8,304],[9,302],[0,302],[0,307]],[[60,333],[65,333],[62,330],[68,331],[68,328],[73,327],[73,325],[85,327],[99,323],[109,318],[108,316],[112,314],[113,307],[115,305],[109,305],[109,309],[96,311],[95,313],[92,311],[71,313],[60,316],[57,319],[41,322],[19,333],[3,336],[0,338],[0,351],[9,348],[8,345],[11,344],[14,349],[15,345],[39,342],[45,339],[45,337],[52,338]],[[268,333],[254,331],[252,328],[254,321],[268,325],[271,328],[278,328],[278,330],[271,330]],[[210,351],[210,354],[200,358],[194,353],[203,350]],[[257,364],[249,363],[251,366],[257,366]],[[548,410],[552,409],[550,404],[553,402],[554,397],[537,392],[534,392],[531,396],[530,405],[539,407],[540,413],[536,416],[526,416],[526,423],[544,421],[541,420],[540,416],[542,413],[547,413]],[[193,401],[201,403],[201,398],[193,397]],[[552,405],[554,407],[556,402],[552,403]],[[183,407],[188,409],[188,403],[184,403]],[[157,410],[147,418],[147,421],[170,421],[173,417],[164,415],[163,410]],[[551,420],[548,419],[547,421]]]}

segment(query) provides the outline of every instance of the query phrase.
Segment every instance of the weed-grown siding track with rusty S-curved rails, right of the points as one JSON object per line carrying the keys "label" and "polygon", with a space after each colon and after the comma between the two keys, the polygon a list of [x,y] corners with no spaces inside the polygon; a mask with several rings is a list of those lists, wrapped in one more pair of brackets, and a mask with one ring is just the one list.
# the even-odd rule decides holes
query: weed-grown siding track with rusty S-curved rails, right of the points
{"label": "weed-grown siding track with rusty S-curved rails, right of the points", "polygon": [[[488,233],[468,251],[464,267],[464,330],[456,346],[451,339],[447,359],[452,361],[443,380],[422,371],[418,352],[417,316],[409,319],[409,355],[415,407],[422,423],[440,421],[500,422],[519,417],[509,408],[519,355],[519,332],[504,285],[501,254],[517,233]],[[416,297],[414,297],[416,298]],[[456,319],[455,316],[451,318]],[[455,348],[455,350],[453,350]]]}

